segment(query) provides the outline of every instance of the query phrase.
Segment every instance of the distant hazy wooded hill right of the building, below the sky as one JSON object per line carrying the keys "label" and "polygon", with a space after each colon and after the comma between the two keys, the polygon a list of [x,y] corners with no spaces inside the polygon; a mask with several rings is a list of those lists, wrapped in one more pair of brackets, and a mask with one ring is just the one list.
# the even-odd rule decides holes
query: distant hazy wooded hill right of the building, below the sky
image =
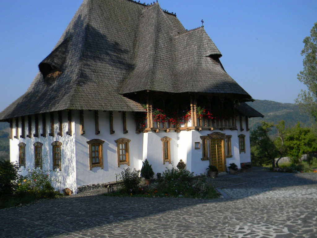
{"label": "distant hazy wooded hill right of the building, below the sky", "polygon": [[301,122],[302,126],[311,126],[309,116],[301,114],[298,106],[293,103],[281,103],[269,100],[256,100],[254,102],[247,102],[249,106],[262,113],[264,117],[254,117],[249,119],[249,128],[256,129],[261,121],[277,122],[284,120],[286,126],[294,126],[297,122]]}

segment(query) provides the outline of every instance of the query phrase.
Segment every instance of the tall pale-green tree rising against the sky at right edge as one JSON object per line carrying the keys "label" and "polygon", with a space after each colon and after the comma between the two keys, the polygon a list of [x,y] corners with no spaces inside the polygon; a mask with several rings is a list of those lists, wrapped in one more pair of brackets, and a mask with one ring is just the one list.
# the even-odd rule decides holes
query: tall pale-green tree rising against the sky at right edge
{"label": "tall pale-green tree rising against the sky at right edge", "polygon": [[305,46],[301,55],[305,56],[304,69],[297,78],[307,86],[308,90],[301,90],[296,103],[317,122],[317,22],[310,30],[310,36],[305,37],[303,43]]}

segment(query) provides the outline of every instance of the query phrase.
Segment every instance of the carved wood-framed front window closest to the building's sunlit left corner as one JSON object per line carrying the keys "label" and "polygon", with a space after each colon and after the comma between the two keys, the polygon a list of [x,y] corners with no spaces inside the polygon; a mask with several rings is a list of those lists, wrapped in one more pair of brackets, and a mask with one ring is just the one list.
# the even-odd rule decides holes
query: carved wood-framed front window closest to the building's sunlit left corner
{"label": "carved wood-framed front window closest to the building's sunlit left corner", "polygon": [[87,141],[89,145],[89,170],[93,167],[101,167],[103,169],[103,149],[102,144],[105,141],[93,139]]}

